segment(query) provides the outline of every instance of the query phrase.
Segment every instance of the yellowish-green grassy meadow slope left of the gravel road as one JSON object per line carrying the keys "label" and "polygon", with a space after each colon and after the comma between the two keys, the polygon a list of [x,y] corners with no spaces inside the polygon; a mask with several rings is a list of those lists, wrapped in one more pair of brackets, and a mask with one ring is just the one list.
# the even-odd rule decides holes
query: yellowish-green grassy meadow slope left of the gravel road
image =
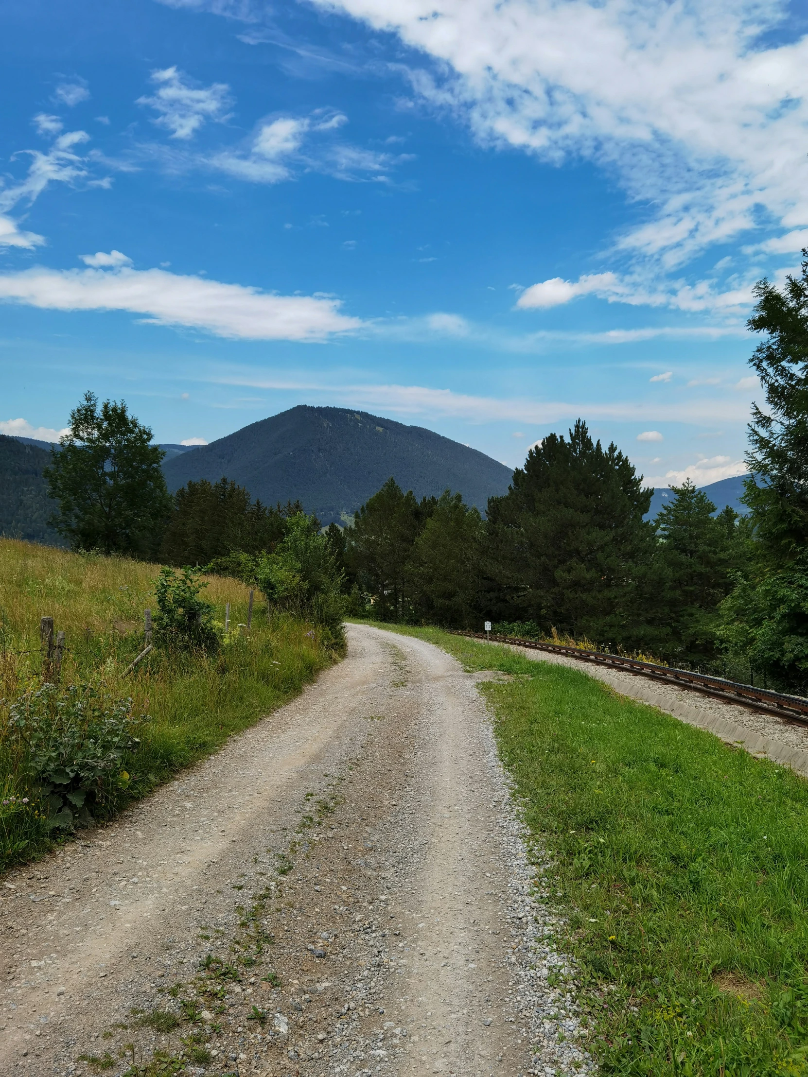
{"label": "yellowish-green grassy meadow slope left of the gravel road", "polygon": [[220,621],[231,603],[235,629],[219,653],[155,648],[125,675],[143,647],[143,610],[155,609],[158,571],[154,564],[0,540],[0,868],[36,855],[58,837],[48,830],[48,810],[37,798],[25,745],[10,725],[14,700],[42,684],[43,615],[67,633],[62,686],[100,685],[114,699],[130,697],[136,716],[151,716],[138,730],[140,744],[106,781],[101,815],[214,751],[333,661],[310,626],[267,619],[260,602],[252,631],[239,634],[238,623],[247,621],[247,589],[213,576],[206,598]]}

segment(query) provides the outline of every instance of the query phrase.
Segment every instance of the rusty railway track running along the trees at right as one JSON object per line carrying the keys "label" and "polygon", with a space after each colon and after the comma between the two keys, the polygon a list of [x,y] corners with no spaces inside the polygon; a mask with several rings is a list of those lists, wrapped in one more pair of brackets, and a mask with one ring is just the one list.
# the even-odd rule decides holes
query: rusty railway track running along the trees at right
{"label": "rusty railway track running along the trees at right", "polygon": [[767,714],[777,714],[781,718],[793,718],[808,725],[808,699],[802,696],[786,696],[784,693],[769,691],[767,688],[753,688],[752,685],[726,681],[709,673],[694,673],[691,670],[658,666],[656,662],[643,662],[639,658],[623,658],[603,651],[586,651],[584,647],[569,647],[562,643],[539,643],[535,640],[520,640],[514,635],[498,635],[494,632],[464,632],[459,629],[452,631],[455,635],[469,635],[476,640],[488,639],[494,643],[511,643],[517,647],[529,647],[531,651],[566,655],[568,658],[576,658],[594,666],[626,670],[635,676],[649,677],[663,684],[675,684],[698,691],[702,696],[721,699],[725,703],[740,703],[755,711],[765,711]]}

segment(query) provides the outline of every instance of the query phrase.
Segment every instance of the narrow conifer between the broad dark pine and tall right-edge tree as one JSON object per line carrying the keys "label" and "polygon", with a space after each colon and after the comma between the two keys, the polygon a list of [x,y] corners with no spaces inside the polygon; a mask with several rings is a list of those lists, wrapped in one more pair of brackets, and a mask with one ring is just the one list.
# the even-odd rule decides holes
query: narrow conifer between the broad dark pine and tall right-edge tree
{"label": "narrow conifer between the broad dark pine and tall right-edge tree", "polygon": [[657,596],[665,609],[665,652],[680,661],[710,662],[716,654],[719,605],[733,589],[732,572],[742,557],[737,513],[727,506],[713,516],[715,505],[691,481],[672,489],[672,501],[654,521],[666,582],[665,593]]}

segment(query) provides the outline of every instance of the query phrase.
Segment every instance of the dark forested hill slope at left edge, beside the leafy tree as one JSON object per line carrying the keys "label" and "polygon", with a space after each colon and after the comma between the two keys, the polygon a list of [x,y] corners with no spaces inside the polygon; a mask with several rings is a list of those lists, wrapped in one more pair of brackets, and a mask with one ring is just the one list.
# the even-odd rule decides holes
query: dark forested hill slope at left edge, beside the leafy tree
{"label": "dark forested hill slope at left edge, beside the leafy tree", "polygon": [[47,526],[55,505],[47,496],[42,471],[50,462],[50,451],[0,434],[0,534],[64,545]]}

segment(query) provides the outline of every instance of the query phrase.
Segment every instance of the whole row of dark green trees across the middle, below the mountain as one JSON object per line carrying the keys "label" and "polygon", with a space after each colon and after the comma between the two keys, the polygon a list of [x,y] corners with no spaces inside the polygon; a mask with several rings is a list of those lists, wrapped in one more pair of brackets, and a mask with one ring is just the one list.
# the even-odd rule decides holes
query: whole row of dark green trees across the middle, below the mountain
{"label": "whole row of dark green trees across the middle, below the mountain", "polygon": [[222,478],[169,495],[162,450],[126,406],[93,394],[54,453],[58,530],[76,548],[205,565],[336,628],[381,620],[587,639],[672,663],[808,686],[808,250],[783,290],[755,288],[753,406],[743,501],[716,513],[692,482],[645,520],[653,491],[579,420],[517,467],[485,517],[459,492],[422,498],[393,478],[345,530],[299,503],[253,502]]}

